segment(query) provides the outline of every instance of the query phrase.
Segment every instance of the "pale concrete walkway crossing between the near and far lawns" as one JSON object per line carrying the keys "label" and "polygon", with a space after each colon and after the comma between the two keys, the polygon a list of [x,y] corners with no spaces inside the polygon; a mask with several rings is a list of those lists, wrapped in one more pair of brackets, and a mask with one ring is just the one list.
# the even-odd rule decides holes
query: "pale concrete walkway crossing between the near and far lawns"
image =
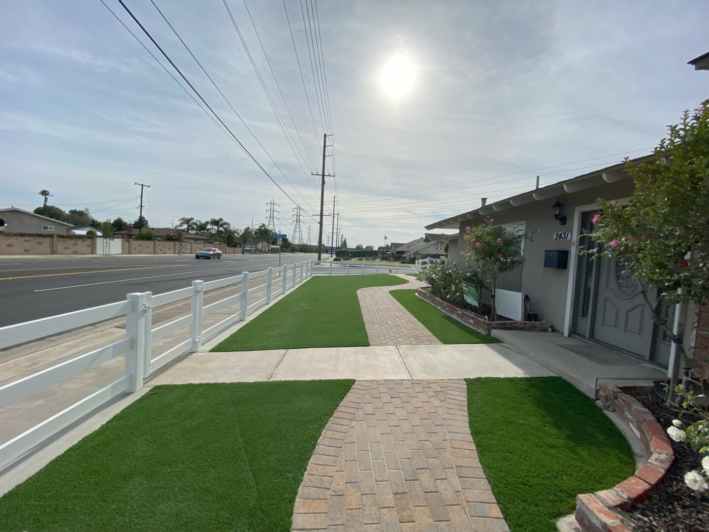
{"label": "pale concrete walkway crossing between the near and far lawns", "polygon": [[193,353],[147,382],[463,379],[556,375],[503,344],[373,345]]}

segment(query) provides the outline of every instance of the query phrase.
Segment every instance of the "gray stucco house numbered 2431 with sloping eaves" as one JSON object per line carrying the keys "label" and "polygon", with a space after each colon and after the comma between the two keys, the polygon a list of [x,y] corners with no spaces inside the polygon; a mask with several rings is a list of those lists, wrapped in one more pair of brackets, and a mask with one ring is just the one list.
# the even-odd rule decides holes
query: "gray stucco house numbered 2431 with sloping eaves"
{"label": "gray stucco house numbered 2431 with sloping eaves", "polygon": [[[484,204],[426,229],[454,229],[463,234],[467,226],[489,223],[492,218],[510,230],[532,233],[532,238],[523,241],[523,266],[504,275],[498,288],[525,294],[530,298],[530,311],[564,336],[584,338],[667,367],[671,342],[654,325],[635,279],[607,257],[589,260],[588,255],[579,255],[579,248],[589,243],[583,233],[593,227],[592,218],[599,212],[597,200],[615,199],[622,204],[632,197],[634,188],[623,164],[612,165]],[[450,260],[464,262],[460,251],[465,245],[461,238],[452,241]],[[674,314],[674,308],[666,311]],[[679,316],[680,331],[686,328],[689,336],[694,310],[685,309]]]}

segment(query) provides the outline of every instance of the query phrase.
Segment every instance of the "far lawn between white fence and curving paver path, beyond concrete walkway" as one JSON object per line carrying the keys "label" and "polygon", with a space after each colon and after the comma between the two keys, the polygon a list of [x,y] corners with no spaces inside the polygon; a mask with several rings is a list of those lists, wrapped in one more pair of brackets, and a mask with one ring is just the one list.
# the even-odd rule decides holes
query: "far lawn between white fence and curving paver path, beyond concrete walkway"
{"label": "far lawn between white fence and curving paver path, beyond concrete walkway", "polygon": [[313,277],[212,350],[369,345],[357,289],[404,283],[386,274]]}

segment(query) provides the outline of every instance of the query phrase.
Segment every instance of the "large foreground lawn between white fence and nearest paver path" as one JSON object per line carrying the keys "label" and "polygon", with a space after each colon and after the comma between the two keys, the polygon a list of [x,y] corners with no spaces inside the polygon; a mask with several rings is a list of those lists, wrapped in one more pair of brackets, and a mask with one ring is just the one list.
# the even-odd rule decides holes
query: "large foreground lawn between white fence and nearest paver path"
{"label": "large foreground lawn between white fence and nearest paver path", "polygon": [[2,531],[288,531],[352,380],[159,386],[0,499]]}

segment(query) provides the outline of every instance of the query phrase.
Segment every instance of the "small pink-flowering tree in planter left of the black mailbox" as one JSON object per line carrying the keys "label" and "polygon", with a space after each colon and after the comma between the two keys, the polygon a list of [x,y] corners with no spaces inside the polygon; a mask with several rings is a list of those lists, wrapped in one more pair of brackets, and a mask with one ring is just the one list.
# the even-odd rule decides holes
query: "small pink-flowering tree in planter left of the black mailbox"
{"label": "small pink-flowering tree in planter left of the black mailbox", "polygon": [[511,272],[523,265],[524,258],[520,243],[525,239],[524,233],[508,231],[503,226],[496,226],[494,218],[486,218],[484,223],[465,228],[465,240],[468,250],[464,255],[469,257],[475,270],[469,279],[478,289],[486,289],[492,299],[491,319],[497,318],[495,307],[495,290],[497,279],[503,273]]}

